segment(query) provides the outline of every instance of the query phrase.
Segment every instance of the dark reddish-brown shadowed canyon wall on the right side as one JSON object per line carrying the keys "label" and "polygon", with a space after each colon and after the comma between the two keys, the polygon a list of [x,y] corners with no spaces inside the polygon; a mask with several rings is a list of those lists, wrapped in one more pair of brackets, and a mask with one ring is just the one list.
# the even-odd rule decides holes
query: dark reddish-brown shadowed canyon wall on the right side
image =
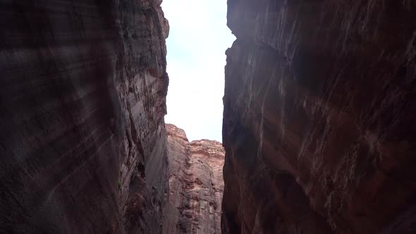
{"label": "dark reddish-brown shadowed canyon wall on the right side", "polygon": [[228,0],[224,233],[416,233],[415,1]]}

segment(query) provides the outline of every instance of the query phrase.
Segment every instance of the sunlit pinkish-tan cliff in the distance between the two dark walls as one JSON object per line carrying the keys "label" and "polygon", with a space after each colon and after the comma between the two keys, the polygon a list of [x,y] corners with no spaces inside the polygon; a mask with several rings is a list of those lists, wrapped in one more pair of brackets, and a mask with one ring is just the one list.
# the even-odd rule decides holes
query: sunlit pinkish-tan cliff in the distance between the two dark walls
{"label": "sunlit pinkish-tan cliff in the distance between the two dark walls", "polygon": [[169,202],[163,233],[221,233],[224,148],[214,140],[188,142],[185,132],[166,124]]}

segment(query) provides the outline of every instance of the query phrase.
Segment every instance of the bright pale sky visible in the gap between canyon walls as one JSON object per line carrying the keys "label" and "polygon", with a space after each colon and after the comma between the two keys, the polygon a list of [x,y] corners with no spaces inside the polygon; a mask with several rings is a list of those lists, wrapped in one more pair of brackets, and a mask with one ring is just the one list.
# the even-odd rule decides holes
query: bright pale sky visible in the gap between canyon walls
{"label": "bright pale sky visible in the gap between canyon walls", "polygon": [[225,51],[235,37],[226,25],[226,0],[164,0],[169,91],[166,123],[189,140],[222,142]]}

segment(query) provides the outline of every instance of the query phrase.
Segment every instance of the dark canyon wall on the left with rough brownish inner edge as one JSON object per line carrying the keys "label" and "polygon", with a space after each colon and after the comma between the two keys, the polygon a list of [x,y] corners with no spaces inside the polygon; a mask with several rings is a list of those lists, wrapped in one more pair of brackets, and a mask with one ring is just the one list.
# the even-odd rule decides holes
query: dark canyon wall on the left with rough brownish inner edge
{"label": "dark canyon wall on the left with rough brownish inner edge", "polygon": [[160,4],[0,2],[0,233],[161,233]]}

